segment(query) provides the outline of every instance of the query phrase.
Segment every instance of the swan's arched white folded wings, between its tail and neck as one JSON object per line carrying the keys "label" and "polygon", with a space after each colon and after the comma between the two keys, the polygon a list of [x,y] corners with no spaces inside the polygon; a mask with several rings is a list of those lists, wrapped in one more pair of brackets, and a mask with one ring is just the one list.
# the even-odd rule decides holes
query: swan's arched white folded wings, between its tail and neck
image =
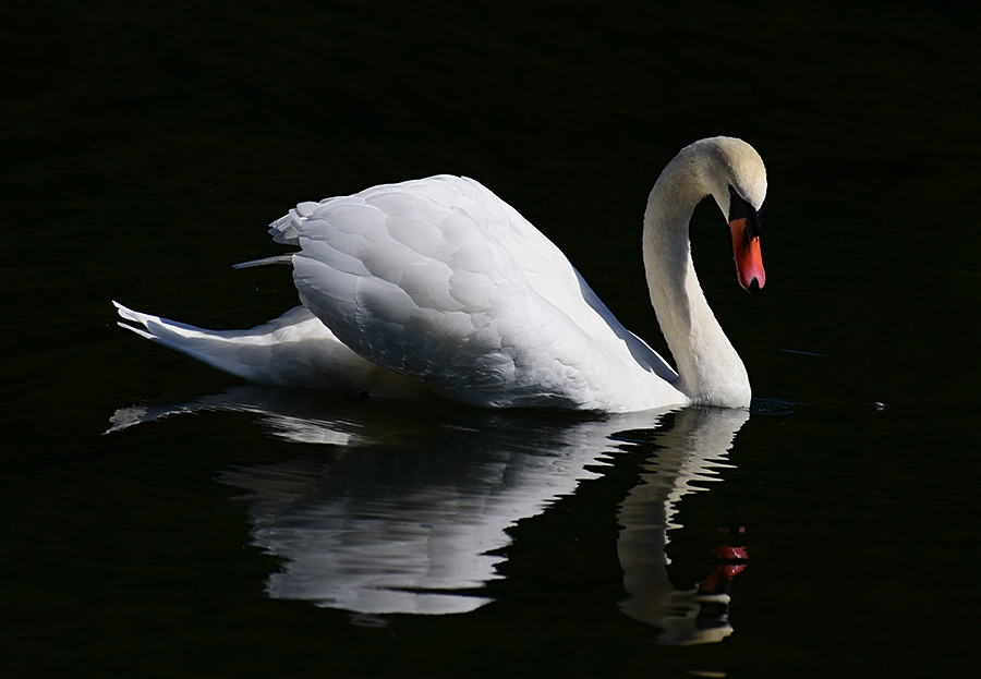
{"label": "swan's arched white folded wings, between its tail and neck", "polygon": [[473,180],[303,203],[270,232],[300,247],[301,300],[344,344],[445,396],[601,410],[679,402],[661,356],[548,239]]}

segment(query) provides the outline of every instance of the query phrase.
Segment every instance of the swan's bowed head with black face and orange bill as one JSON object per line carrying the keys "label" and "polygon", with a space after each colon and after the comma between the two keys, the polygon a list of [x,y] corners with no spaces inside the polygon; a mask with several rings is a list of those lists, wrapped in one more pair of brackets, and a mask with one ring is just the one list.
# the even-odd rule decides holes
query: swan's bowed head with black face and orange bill
{"label": "swan's bowed head with black face and orange bill", "polygon": [[697,142],[712,159],[706,180],[712,196],[729,222],[736,276],[748,292],[766,282],[760,252],[760,210],[766,197],[766,168],[756,150],[743,142],[717,136]]}

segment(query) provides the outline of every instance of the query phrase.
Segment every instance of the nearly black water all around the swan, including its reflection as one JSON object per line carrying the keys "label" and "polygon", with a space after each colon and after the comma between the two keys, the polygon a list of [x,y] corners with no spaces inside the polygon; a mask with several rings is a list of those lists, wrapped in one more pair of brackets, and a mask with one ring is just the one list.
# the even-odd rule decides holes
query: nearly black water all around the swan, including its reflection
{"label": "nearly black water all around the swan, including its reflection", "polygon": [[[971,676],[978,29],[976,2],[0,10],[4,676]],[[641,213],[713,134],[771,182],[762,294],[693,225],[748,416],[245,388],[114,325],[264,322],[288,271],[230,266],[279,252],[271,219],[456,172],[662,348]],[[167,416],[104,435],[131,407]]]}

